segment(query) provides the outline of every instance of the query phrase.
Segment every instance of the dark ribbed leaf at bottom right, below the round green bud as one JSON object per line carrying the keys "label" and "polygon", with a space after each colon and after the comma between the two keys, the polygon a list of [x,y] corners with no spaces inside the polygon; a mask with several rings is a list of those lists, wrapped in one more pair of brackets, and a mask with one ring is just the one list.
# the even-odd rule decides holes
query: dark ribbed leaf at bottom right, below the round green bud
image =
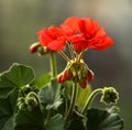
{"label": "dark ribbed leaf at bottom right, below the round green bud", "polygon": [[91,108],[87,111],[88,130],[122,130],[123,121],[118,113]]}

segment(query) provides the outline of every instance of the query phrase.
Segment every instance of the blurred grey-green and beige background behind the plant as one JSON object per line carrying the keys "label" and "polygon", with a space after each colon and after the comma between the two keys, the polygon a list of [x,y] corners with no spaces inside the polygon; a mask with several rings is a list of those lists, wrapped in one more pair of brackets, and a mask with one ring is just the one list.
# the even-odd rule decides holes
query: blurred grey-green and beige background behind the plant
{"label": "blurred grey-green and beige background behind the plant", "polygon": [[[0,73],[12,63],[33,66],[36,77],[50,71],[48,56],[31,55],[36,32],[59,25],[68,17],[89,17],[106,29],[114,44],[88,51],[85,61],[95,72],[92,88],[114,86],[120,93],[124,130],[132,129],[132,1],[131,0],[0,0]],[[58,72],[65,66],[57,55]]]}

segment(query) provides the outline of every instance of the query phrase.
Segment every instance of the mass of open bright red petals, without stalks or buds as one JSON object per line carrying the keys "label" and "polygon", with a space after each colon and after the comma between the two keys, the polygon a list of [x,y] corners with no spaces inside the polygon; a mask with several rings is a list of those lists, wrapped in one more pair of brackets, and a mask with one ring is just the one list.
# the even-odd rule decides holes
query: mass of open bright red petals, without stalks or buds
{"label": "mass of open bright red petals, without stalks or buds", "polygon": [[112,45],[103,28],[99,28],[90,18],[68,18],[59,28],[44,28],[37,35],[40,44],[50,51],[62,51],[66,43],[72,44],[77,53],[87,48],[102,51]]}

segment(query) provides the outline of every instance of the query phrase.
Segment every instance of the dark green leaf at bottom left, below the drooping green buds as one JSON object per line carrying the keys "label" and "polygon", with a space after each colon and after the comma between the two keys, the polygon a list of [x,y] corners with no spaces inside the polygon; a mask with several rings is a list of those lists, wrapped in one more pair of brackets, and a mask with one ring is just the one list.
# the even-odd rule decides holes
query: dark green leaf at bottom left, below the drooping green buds
{"label": "dark green leaf at bottom left, below the drooping green buds", "polygon": [[14,130],[44,130],[44,118],[40,108],[32,111],[19,110],[15,115]]}

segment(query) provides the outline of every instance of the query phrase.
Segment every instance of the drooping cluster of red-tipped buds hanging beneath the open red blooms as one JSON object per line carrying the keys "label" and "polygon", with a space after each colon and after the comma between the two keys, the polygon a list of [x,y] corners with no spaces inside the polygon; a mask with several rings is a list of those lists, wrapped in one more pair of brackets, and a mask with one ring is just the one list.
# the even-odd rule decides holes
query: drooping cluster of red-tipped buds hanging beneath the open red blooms
{"label": "drooping cluster of red-tipped buds hanging beneath the open red blooms", "polygon": [[88,68],[82,59],[80,62],[70,61],[63,73],[58,75],[58,83],[73,80],[78,83],[81,88],[86,88],[87,83],[94,79],[94,73]]}

